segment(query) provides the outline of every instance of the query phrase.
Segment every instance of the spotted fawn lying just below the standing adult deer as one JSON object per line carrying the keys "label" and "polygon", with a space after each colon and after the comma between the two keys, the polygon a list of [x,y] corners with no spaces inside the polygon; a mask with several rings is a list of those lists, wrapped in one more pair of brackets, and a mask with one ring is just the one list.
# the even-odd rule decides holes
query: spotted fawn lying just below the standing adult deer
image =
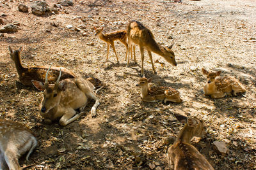
{"label": "spotted fawn lying just below the standing adult deer", "polygon": [[180,99],[180,93],[172,89],[171,87],[149,87],[148,83],[152,81],[152,78],[140,78],[139,83],[136,86],[141,87],[141,98],[145,102],[157,102],[157,101],[172,101],[175,103],[182,102]]}

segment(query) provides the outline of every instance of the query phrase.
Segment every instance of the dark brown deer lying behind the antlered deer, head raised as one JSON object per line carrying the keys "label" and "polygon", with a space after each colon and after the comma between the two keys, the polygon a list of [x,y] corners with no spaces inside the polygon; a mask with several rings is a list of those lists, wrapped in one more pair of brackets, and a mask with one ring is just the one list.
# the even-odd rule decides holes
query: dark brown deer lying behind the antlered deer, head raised
{"label": "dark brown deer lying behind the antlered deer, head raised", "polygon": [[[46,66],[38,66],[38,67],[23,67],[21,64],[20,59],[20,52],[22,52],[23,47],[20,47],[18,50],[12,50],[11,46],[8,47],[10,51],[10,57],[15,62],[15,66],[17,72],[19,74],[19,80],[23,85],[31,86],[31,80],[38,80],[44,81],[45,80],[45,73],[48,69]],[[60,73],[60,68],[62,70],[61,80],[66,78],[75,78],[76,76],[74,73],[65,69],[64,67],[52,67],[51,71],[49,72],[49,83],[54,83],[57,78],[58,74]]]}

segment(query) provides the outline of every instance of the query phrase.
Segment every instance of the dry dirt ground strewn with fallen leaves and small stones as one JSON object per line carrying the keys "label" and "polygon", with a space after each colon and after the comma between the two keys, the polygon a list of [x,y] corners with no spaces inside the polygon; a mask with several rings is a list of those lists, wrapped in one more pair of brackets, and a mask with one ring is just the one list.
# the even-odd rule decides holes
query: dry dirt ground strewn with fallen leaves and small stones
{"label": "dry dirt ground strewn with fallen leaves and small stones", "polygon": [[[31,6],[31,1],[21,1]],[[53,6],[58,1],[46,1]],[[38,147],[24,169],[168,169],[168,146],[161,141],[176,137],[182,125],[173,113],[202,118],[207,135],[193,145],[214,169],[256,169],[256,1],[76,1],[58,15],[36,17],[17,10],[20,1],[0,1],[4,24],[20,22],[19,31],[0,37],[0,116],[28,125]],[[145,52],[145,76],[153,85],[179,90],[183,103],[143,103],[136,83],[138,64],[126,67],[125,46],[116,41],[120,64],[113,50],[106,61],[107,45],[94,36],[93,26],[104,32],[126,29],[138,20],[164,46],[175,43],[177,67],[153,54],[157,74]],[[67,25],[81,31],[68,29]],[[53,25],[57,25],[55,27]],[[1,26],[1,25],[0,25]],[[82,26],[81,26],[82,27]],[[88,114],[66,127],[45,124],[39,115],[42,92],[24,87],[10,59],[8,45],[24,46],[24,66],[63,66],[84,78],[94,76],[106,87],[97,94],[97,117]],[[202,67],[235,76],[247,92],[237,97],[204,96]],[[212,143],[224,141],[227,154],[217,153]]]}

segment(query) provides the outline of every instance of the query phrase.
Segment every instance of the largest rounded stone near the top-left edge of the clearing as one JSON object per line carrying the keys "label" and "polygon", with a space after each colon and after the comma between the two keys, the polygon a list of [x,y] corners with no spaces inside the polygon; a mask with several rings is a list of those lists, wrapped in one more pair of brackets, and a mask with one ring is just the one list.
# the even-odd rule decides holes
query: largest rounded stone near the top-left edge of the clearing
{"label": "largest rounded stone near the top-left edge of the clearing", "polygon": [[38,16],[49,16],[52,11],[44,1],[35,1],[31,6],[32,13]]}

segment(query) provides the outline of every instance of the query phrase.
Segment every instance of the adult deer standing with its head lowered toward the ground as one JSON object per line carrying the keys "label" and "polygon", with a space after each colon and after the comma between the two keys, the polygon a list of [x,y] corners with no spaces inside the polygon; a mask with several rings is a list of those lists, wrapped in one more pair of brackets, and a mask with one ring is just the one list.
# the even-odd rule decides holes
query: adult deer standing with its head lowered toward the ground
{"label": "adult deer standing with its head lowered toward the ground", "polygon": [[[144,48],[148,51],[148,55],[150,58],[150,62],[152,64],[152,69],[154,73],[156,73],[156,69],[154,67],[154,62],[152,59],[152,53],[157,53],[164,57],[167,62],[173,64],[173,66],[177,66],[175,61],[175,55],[172,51],[172,46],[165,48],[164,46],[159,45],[154,39],[154,35],[152,32],[147,29],[144,25],[136,20],[132,20],[127,25],[127,36],[128,36],[128,45],[129,45],[129,53],[132,53],[132,42],[136,45],[140,46],[141,53],[141,75],[144,76],[143,62],[144,62]],[[136,60],[134,53],[134,60]],[[127,60],[127,67],[129,66],[129,55]]]}

